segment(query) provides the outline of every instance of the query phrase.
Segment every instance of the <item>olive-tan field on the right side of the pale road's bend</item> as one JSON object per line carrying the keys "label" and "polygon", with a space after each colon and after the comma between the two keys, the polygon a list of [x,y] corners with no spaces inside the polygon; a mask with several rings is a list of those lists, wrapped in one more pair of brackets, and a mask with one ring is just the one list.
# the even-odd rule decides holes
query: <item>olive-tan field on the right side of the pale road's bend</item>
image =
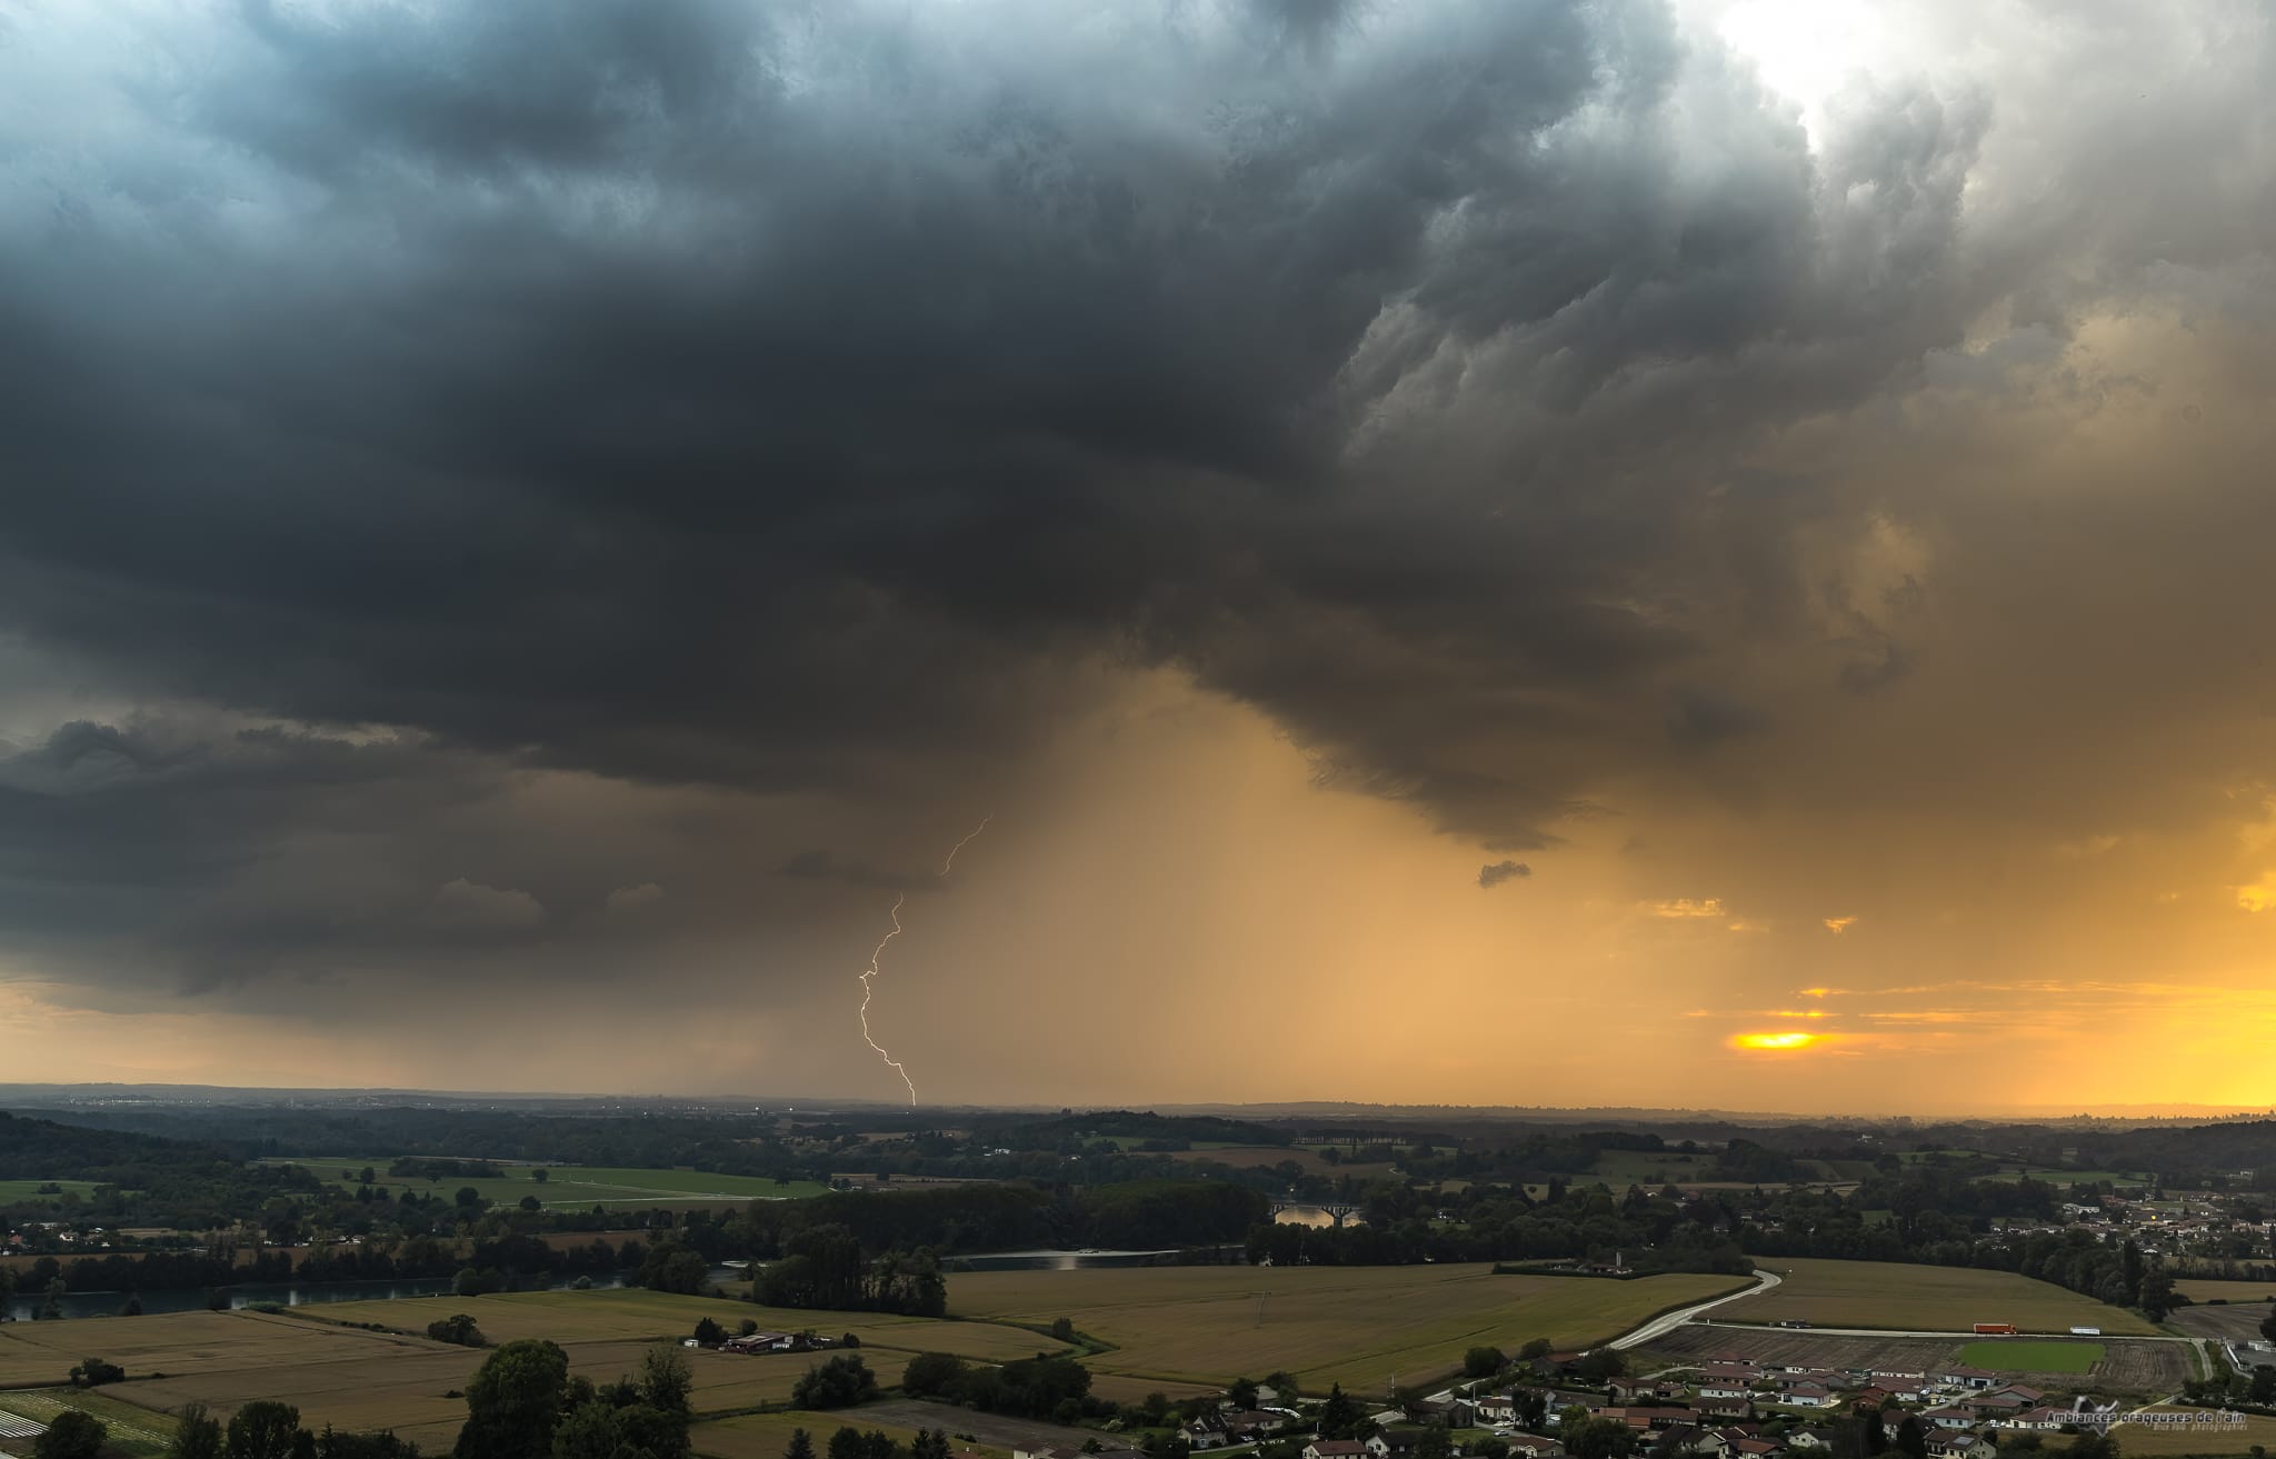
{"label": "olive-tan field on the right side of the pale road's bend", "polygon": [[[1976,1322],[2014,1322],[2023,1332],[2101,1327],[2108,1336],[2151,1336],[2137,1313],[2105,1306],[2051,1281],[2017,1272],[1898,1261],[1814,1261],[1764,1256],[1784,1281],[1730,1316],[1748,1322],[1803,1320],[1816,1327],[1887,1332],[1969,1332]],[[1725,1313],[1716,1313],[1725,1320]]]}

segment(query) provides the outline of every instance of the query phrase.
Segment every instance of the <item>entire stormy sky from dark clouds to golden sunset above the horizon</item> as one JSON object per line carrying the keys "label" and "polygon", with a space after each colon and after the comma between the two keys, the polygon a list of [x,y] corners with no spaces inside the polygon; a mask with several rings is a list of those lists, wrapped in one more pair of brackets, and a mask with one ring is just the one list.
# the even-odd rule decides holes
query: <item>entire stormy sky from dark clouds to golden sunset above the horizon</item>
{"label": "entire stormy sky from dark clouds to golden sunset above the horizon", "polygon": [[0,1036],[894,1097],[906,890],[942,1097],[2276,1102],[2271,80],[2244,0],[0,0]]}

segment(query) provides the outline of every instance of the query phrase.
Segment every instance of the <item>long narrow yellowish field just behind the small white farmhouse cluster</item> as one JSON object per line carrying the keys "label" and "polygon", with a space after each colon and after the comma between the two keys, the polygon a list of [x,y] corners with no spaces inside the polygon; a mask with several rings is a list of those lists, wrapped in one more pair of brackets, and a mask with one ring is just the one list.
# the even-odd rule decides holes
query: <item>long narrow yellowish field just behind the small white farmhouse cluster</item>
{"label": "long narrow yellowish field just behind the small white farmhouse cluster", "polygon": [[[960,1279],[965,1281],[965,1279]],[[296,1309],[316,1322],[382,1322],[401,1332],[426,1332],[453,1313],[467,1313],[492,1343],[514,1338],[553,1338],[555,1343],[603,1343],[637,1338],[685,1338],[701,1318],[712,1318],[728,1332],[744,1318],[767,1332],[801,1332],[813,1327],[826,1336],[851,1332],[863,1347],[894,1352],[956,1352],[988,1361],[1058,1352],[1063,1343],[988,1322],[945,1322],[940,1318],[897,1318],[874,1311],[794,1311],[753,1306],[721,1297],[681,1297],[642,1288],[494,1293],[487,1297],[401,1297],[394,1302],[323,1302]],[[792,1357],[792,1354],[776,1354]],[[762,1359],[751,1359],[762,1361]],[[803,1363],[801,1363],[803,1370]]]}

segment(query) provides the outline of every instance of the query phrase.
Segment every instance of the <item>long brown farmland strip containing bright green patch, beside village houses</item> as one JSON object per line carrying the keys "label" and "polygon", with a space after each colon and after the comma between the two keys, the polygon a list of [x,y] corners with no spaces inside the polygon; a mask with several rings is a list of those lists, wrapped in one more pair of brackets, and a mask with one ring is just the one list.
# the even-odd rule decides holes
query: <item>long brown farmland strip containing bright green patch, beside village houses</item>
{"label": "long brown farmland strip containing bright green patch, beside village houses", "polygon": [[[1989,1352],[1976,1352],[1987,1347]],[[2098,1354],[2080,1359],[2069,1352]],[[2019,1341],[1962,1343],[1960,1338],[1914,1338],[1914,1336],[1846,1336],[1832,1332],[1782,1332],[1762,1327],[1691,1325],[1652,1341],[1639,1354],[1646,1366],[1691,1366],[1721,1354],[1748,1357],[1759,1363],[1816,1363],[1825,1368],[1882,1368],[1891,1373],[1928,1373],[1939,1363],[1964,1361],[1976,1368],[2021,1373],[2028,1382],[2046,1388],[2085,1386],[2108,1393],[2135,1393],[2162,1398],[2180,1388],[2194,1375],[2190,1347],[2167,1341]],[[2032,1363],[2058,1363],[2035,1368]]]}

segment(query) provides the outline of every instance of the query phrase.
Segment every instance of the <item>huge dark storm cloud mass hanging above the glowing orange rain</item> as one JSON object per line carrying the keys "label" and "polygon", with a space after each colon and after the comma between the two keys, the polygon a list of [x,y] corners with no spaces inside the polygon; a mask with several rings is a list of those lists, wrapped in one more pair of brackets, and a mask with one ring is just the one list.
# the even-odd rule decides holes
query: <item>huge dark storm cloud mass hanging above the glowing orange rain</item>
{"label": "huge dark storm cloud mass hanging above the glowing orange rain", "polygon": [[[1971,68],[1921,7],[1805,121],[1714,11],[18,7],[0,938],[216,988],[840,915],[1154,674],[1541,883],[1661,801],[2210,803],[2108,790],[2064,635],[2269,526],[2174,394],[2267,348],[2265,16],[2003,5]],[[2019,444],[2183,405],[2108,458],[2155,505]],[[2149,642],[2196,587],[2119,640],[2174,742],[2242,712]]]}

